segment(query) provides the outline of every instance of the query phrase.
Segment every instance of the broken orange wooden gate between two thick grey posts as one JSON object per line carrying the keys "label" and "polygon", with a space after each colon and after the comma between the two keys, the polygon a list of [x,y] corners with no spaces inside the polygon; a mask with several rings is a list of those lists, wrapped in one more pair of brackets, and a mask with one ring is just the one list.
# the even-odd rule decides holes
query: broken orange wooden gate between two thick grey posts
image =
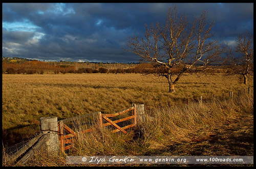
{"label": "broken orange wooden gate between two thick grey posts", "polygon": [[[122,119],[118,119],[115,121],[112,121],[111,119],[109,119],[110,117],[117,117],[119,115],[124,114],[125,112],[128,111],[133,111],[133,115],[129,116],[129,117],[125,117]],[[127,133],[127,131],[125,131],[125,129],[136,126],[136,104],[133,104],[132,107],[129,107],[127,109],[124,109],[122,111],[116,112],[114,114],[108,114],[108,115],[103,115],[101,114],[101,112],[93,112],[92,114],[87,114],[87,115],[82,115],[82,116],[78,116],[78,117],[74,117],[74,118],[69,118],[69,119],[65,119],[65,120],[60,120],[58,121],[58,132],[59,132],[59,144],[60,144],[60,150],[62,152],[64,152],[65,150],[68,150],[70,148],[72,148],[72,143],[76,140],[76,136],[77,133],[72,130],[68,125],[64,124],[67,122],[71,122],[71,121],[75,121],[75,120],[79,120],[79,119],[83,119],[83,118],[87,118],[90,116],[98,116],[99,119],[99,127],[105,127],[105,126],[109,126],[112,125],[113,127],[115,127],[116,129],[113,130],[112,132],[118,132],[121,131],[123,133]],[[107,123],[102,123],[102,119],[105,120]],[[119,125],[117,125],[117,123],[120,122],[124,122],[126,120],[130,120],[132,119],[132,124],[124,126],[124,127],[120,127]],[[91,132],[93,129],[95,128],[90,128],[87,130],[83,130],[83,131],[79,131],[79,133],[87,133],[87,132]]]}

